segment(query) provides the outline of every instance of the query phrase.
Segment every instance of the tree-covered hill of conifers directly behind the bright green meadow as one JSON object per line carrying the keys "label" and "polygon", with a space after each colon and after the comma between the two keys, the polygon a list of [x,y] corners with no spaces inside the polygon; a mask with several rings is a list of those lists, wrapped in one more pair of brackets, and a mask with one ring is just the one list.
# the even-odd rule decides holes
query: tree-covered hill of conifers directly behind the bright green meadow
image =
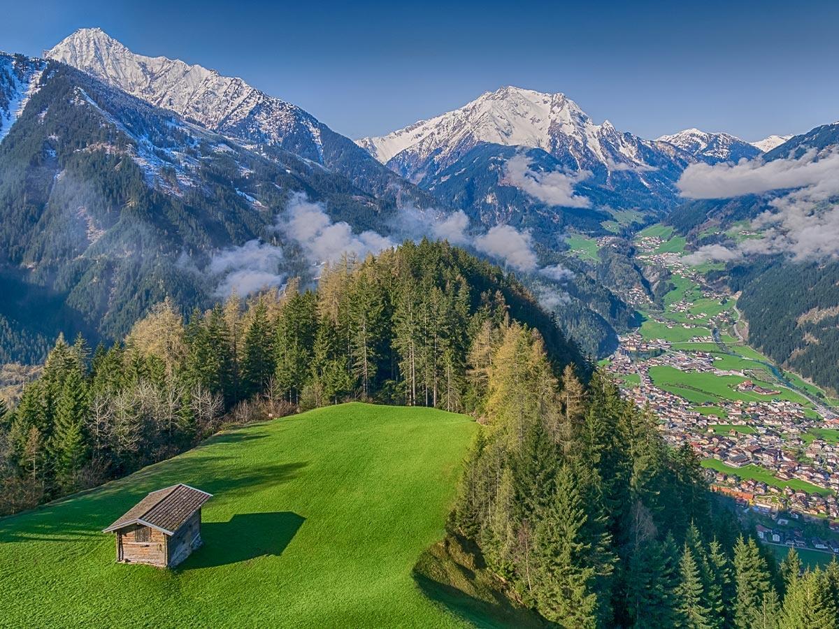
{"label": "tree-covered hill of conifers directly behind the bright green meadow", "polygon": [[[221,421],[347,399],[462,411],[498,330],[541,330],[557,366],[586,365],[511,278],[445,243],[407,242],[187,320],[167,299],[122,343],[59,340],[18,407],[0,413],[3,512],[174,455]],[[489,352],[487,354],[487,352]]]}

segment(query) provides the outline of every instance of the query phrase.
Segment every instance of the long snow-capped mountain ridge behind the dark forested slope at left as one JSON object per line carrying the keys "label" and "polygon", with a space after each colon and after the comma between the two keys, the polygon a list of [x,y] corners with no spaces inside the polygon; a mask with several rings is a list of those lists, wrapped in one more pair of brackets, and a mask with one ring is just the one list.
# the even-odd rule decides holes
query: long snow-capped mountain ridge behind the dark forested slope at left
{"label": "long snow-capped mountain ridge behind the dark forested slope at left", "polygon": [[289,151],[343,174],[367,193],[394,202],[433,205],[428,195],[384,169],[349,138],[240,78],[181,60],[137,55],[102,29],[79,29],[46,56],[248,148]]}

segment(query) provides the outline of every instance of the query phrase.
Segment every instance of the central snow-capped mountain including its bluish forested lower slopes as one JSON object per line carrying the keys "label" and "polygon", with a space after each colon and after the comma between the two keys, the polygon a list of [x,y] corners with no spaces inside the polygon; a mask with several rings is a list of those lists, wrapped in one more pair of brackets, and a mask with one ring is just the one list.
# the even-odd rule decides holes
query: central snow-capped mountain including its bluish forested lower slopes
{"label": "central snow-capped mountain including its bluish forested lower slopes", "polygon": [[[596,124],[564,94],[512,86],[357,143],[446,205],[539,233],[571,226],[605,234],[598,208],[666,211],[678,202],[675,180],[696,161],[673,144]],[[519,154],[531,168],[505,177]]]}

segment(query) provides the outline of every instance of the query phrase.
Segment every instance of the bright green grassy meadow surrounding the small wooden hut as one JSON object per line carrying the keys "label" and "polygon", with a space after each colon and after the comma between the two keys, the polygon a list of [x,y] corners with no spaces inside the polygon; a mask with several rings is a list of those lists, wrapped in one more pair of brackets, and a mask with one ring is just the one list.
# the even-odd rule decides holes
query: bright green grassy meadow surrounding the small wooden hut
{"label": "bright green grassy meadow surrounding the small wooden hut", "polygon": [[[456,626],[411,569],[444,534],[474,429],[425,408],[323,408],[0,519],[0,624]],[[177,481],[215,494],[205,546],[174,571],[116,564],[99,531]]]}

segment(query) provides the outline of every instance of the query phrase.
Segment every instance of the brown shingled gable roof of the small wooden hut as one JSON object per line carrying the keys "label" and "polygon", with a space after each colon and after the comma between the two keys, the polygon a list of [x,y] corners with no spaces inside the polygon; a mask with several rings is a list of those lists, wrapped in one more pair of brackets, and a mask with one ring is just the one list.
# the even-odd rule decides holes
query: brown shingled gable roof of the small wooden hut
{"label": "brown shingled gable roof of the small wooden hut", "polygon": [[212,494],[183,483],[152,491],[111,526],[102,529],[102,533],[111,533],[131,524],[143,524],[174,535],[211,497]]}

